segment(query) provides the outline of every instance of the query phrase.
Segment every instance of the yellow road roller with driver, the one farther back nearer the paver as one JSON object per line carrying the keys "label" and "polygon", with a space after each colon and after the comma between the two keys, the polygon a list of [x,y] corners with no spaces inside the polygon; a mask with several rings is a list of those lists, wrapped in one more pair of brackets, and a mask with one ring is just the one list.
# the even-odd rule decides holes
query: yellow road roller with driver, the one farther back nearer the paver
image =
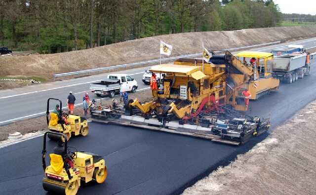
{"label": "yellow road roller with driver, the one farther back nearer the paver", "polygon": [[[49,112],[49,102],[51,100],[56,100],[59,104],[56,105],[55,110]],[[59,99],[49,98],[47,100],[46,121],[49,131],[63,133],[67,140],[72,136],[87,136],[89,133],[86,118],[62,112],[62,102]],[[49,138],[56,139],[53,135],[49,135]]]}

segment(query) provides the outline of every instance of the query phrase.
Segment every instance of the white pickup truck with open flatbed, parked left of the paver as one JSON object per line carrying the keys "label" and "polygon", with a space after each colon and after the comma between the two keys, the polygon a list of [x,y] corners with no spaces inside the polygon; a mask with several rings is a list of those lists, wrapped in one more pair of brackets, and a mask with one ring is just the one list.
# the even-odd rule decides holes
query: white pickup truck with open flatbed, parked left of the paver
{"label": "white pickup truck with open flatbed, parked left of the paver", "polygon": [[137,81],[130,75],[126,74],[113,74],[108,75],[108,78],[90,84],[90,90],[98,97],[101,95],[108,95],[114,97],[122,91],[136,92],[138,85]]}

